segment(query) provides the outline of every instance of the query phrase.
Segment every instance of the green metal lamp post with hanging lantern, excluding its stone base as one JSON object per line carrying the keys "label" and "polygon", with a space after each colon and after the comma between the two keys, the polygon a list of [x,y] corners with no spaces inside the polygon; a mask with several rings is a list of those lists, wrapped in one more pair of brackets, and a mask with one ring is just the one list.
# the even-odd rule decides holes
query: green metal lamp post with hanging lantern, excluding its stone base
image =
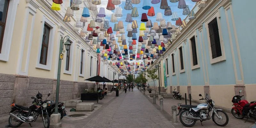
{"label": "green metal lamp post with hanging lantern, excluding its stone base", "polygon": [[[66,42],[64,43],[64,39],[66,38]],[[60,57],[59,57],[59,64],[58,64],[58,75],[57,75],[57,86],[56,86],[56,97],[55,97],[55,109],[54,113],[58,113],[58,104],[59,104],[59,90],[60,90],[60,69],[61,69],[61,60],[63,59],[62,52],[65,52],[63,44],[65,45],[66,50],[68,51],[70,49],[70,42],[69,42],[69,36],[65,36],[64,38],[61,37],[60,39]]]}

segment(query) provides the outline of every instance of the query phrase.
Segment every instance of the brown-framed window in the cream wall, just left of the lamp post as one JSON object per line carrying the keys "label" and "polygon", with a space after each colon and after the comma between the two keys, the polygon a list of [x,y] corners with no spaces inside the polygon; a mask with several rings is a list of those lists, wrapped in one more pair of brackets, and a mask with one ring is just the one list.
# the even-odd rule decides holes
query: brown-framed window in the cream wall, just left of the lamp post
{"label": "brown-framed window in the cream wall, just left of the lamp post", "polygon": [[46,62],[47,62],[50,29],[51,28],[49,26],[44,24],[42,48],[41,48],[40,61],[39,61],[39,63],[43,65],[46,65]]}

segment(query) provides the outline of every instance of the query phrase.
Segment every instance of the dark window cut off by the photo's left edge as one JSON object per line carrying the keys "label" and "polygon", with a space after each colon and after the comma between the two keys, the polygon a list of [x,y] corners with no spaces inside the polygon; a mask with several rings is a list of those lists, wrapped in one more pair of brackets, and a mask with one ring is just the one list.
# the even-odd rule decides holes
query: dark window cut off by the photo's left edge
{"label": "dark window cut off by the photo's left edge", "polygon": [[9,0],[0,0],[0,5],[1,5],[0,6],[0,14],[1,14],[0,15],[0,53],[1,53]]}

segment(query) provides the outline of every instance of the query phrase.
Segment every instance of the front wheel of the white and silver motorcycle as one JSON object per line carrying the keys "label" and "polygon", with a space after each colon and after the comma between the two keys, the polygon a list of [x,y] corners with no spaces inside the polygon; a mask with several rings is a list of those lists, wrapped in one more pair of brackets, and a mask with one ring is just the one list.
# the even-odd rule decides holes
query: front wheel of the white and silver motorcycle
{"label": "front wheel of the white and silver motorcycle", "polygon": [[218,116],[213,112],[212,121],[218,126],[226,126],[228,124],[227,113],[222,110],[216,110],[216,113],[220,116],[220,118],[218,118]]}

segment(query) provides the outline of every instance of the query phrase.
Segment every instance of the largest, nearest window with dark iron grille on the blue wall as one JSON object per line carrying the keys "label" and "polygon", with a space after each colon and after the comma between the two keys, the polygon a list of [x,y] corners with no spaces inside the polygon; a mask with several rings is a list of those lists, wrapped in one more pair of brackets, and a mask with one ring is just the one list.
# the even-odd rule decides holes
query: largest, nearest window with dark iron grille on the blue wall
{"label": "largest, nearest window with dark iron grille on the blue wall", "polygon": [[210,42],[211,42],[211,50],[212,50],[212,59],[221,56],[221,47],[220,47],[220,35],[219,35],[219,28],[217,17],[214,18],[209,24],[209,35],[210,35]]}

